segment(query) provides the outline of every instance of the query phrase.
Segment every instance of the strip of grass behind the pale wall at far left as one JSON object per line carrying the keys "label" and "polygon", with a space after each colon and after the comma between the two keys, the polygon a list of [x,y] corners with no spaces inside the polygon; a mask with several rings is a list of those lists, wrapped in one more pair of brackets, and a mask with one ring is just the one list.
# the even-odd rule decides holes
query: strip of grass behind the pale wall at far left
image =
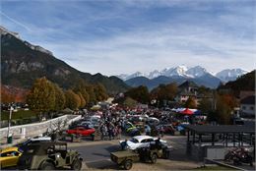
{"label": "strip of grass behind the pale wall at far left", "polygon": [[[1,111],[1,120],[8,120],[9,114],[9,111]],[[17,112],[12,112],[12,120],[34,118],[36,116],[37,112],[32,110],[18,110]]]}

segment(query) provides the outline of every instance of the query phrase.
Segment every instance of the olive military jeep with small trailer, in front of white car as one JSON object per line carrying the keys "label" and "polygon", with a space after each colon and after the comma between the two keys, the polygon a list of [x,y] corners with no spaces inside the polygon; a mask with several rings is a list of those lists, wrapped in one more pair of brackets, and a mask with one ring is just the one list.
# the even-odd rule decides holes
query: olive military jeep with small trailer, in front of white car
{"label": "olive military jeep with small trailer, in front of white car", "polygon": [[111,152],[110,157],[120,168],[130,170],[134,162],[143,161],[156,163],[158,157],[162,156],[162,149],[151,147],[140,147],[136,150],[120,150]]}

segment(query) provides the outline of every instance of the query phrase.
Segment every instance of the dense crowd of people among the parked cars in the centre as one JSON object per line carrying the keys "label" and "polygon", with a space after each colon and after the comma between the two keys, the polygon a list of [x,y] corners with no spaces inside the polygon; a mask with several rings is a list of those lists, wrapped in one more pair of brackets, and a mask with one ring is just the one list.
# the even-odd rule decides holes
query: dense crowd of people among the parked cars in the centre
{"label": "dense crowd of people among the parked cars in the centre", "polygon": [[[137,127],[137,130],[141,133],[145,133],[148,136],[160,136],[163,137],[166,130],[163,125],[172,125],[173,129],[171,134],[174,134],[176,130],[180,131],[180,125],[183,120],[188,121],[186,117],[176,117],[169,111],[158,109],[144,109],[144,110],[131,110],[124,108],[117,109],[104,109],[99,111],[90,111],[85,114],[85,118],[90,116],[100,116],[98,123],[96,124],[96,130],[100,136],[100,140],[120,140],[121,135],[127,134],[127,130],[131,127]],[[138,121],[138,116],[144,117],[143,120]],[[137,119],[135,119],[137,118]],[[149,118],[155,118],[159,120],[157,123],[150,123]],[[142,127],[138,127],[138,123],[143,123]],[[129,135],[129,136],[137,136]]]}

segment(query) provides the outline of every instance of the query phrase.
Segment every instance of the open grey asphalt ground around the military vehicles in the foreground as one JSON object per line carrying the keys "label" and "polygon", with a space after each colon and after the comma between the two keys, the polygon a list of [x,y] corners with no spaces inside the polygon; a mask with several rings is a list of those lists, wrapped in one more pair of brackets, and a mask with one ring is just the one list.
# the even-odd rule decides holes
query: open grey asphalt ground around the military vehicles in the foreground
{"label": "open grey asphalt ground around the military vehicles in the foreground", "polygon": [[[163,138],[173,146],[170,159],[159,159],[156,164],[135,163],[132,170],[189,170],[199,167],[201,163],[190,160],[185,153],[186,137],[165,136]],[[69,148],[77,149],[84,158],[83,169],[90,170],[118,170],[118,167],[110,160],[110,152],[120,148],[119,142],[70,142]]]}

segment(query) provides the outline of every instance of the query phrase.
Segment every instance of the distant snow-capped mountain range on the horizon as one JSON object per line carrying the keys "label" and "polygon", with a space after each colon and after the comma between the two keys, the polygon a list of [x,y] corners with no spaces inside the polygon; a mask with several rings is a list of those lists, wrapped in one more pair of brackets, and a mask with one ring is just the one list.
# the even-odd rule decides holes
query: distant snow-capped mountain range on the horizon
{"label": "distant snow-capped mountain range on the horizon", "polygon": [[185,80],[193,81],[197,85],[217,87],[220,83],[234,81],[237,77],[246,73],[246,71],[241,69],[226,69],[214,75],[201,66],[188,68],[181,65],[173,68],[166,68],[161,71],[154,70],[147,74],[136,72],[131,75],[121,74],[117,77],[125,81],[127,85],[147,85],[150,89],[160,84],[180,84]]}

